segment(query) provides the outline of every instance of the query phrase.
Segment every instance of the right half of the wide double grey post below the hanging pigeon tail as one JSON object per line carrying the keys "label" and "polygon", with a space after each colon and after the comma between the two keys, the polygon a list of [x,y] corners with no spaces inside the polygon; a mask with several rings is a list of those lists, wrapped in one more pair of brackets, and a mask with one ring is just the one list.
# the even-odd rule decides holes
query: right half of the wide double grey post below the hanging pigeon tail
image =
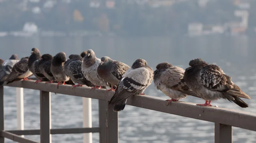
{"label": "right half of the wide double grey post below the hanging pigeon tail", "polygon": [[118,143],[118,112],[108,105],[108,143]]}

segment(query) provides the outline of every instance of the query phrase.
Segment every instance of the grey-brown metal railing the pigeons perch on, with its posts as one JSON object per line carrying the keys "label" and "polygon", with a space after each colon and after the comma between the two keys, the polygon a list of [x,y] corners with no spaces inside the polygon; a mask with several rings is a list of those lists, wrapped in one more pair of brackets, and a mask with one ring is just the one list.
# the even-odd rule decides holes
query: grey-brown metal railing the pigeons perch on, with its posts
{"label": "grey-brown metal railing the pigeons perch on, with its posts", "polygon": [[[16,81],[7,86],[40,90],[40,129],[4,130],[3,87],[0,87],[0,143],[4,143],[5,137],[19,143],[38,143],[20,137],[19,135],[41,135],[40,143],[51,143],[51,134],[94,132],[99,132],[100,143],[118,143],[118,113],[113,112],[112,105],[108,105],[113,96],[113,92],[107,92],[106,90],[90,90],[88,87],[76,87],[72,90],[70,85],[60,85],[57,89],[56,84],[44,84],[44,82],[34,84],[34,82],[35,81]],[[90,125],[88,128],[51,129],[49,92],[98,99],[99,127],[92,128]],[[163,98],[148,95],[131,96],[127,104],[183,117],[214,122],[215,143],[232,143],[232,126],[256,131],[256,114],[250,112],[241,112],[219,107],[199,107],[195,106],[194,103],[181,101],[172,102],[172,104],[166,106],[166,101]],[[91,112],[91,109],[86,112]],[[91,120],[87,121],[87,124],[91,124],[90,122]],[[91,135],[86,137],[91,137]]]}

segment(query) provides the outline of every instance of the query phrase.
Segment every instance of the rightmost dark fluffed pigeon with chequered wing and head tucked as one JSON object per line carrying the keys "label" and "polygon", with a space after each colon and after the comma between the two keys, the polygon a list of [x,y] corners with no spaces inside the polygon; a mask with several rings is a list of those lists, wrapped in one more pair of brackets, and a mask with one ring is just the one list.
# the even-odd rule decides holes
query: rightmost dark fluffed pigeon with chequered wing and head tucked
{"label": "rightmost dark fluffed pigeon with chequered wing and head tucked", "polygon": [[197,105],[212,106],[212,100],[224,98],[242,108],[248,107],[248,104],[240,98],[250,99],[249,95],[242,92],[220,67],[215,64],[208,64],[200,58],[191,60],[189,66],[184,73],[186,84],[205,100],[205,104]]}

